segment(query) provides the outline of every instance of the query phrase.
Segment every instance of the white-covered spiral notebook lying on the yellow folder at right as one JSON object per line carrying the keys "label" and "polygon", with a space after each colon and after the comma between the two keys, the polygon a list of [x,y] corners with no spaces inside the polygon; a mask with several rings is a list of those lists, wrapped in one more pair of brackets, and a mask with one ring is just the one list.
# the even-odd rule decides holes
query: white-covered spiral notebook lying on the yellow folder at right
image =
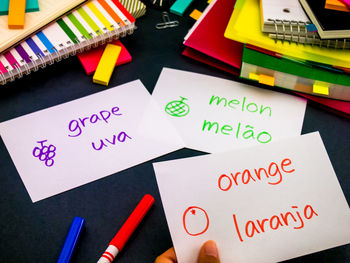
{"label": "white-covered spiral notebook lying on the yellow folder at right", "polygon": [[262,31],[276,41],[350,49],[350,39],[321,39],[317,32],[308,31],[311,22],[298,0],[261,0],[260,11]]}

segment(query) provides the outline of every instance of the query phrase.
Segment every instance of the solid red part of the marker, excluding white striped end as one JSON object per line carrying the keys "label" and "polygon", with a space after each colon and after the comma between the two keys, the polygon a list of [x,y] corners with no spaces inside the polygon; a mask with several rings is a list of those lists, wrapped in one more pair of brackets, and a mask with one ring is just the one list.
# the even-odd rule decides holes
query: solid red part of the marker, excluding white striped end
{"label": "solid red part of the marker, excluding white striped end", "polygon": [[114,245],[119,249],[119,251],[121,251],[126,241],[129,239],[141,220],[147,214],[153,203],[154,198],[151,195],[145,195],[140,203],[136,206],[135,210],[131,213],[129,218],[126,220],[124,225],[121,227],[121,229],[112,239],[110,245]]}

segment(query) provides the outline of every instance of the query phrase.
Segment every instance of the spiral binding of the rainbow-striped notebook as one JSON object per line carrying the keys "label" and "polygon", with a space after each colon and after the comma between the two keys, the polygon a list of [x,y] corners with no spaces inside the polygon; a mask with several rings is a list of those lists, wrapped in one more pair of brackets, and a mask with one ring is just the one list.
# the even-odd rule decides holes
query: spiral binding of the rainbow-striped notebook
{"label": "spiral binding of the rainbow-striped notebook", "polygon": [[[114,25],[111,25],[111,27],[115,28]],[[17,63],[12,64],[14,67],[13,69],[8,70],[6,73],[1,73],[0,71],[0,85],[5,85],[7,82],[12,82],[15,79],[22,78],[23,74],[29,75],[31,72],[38,71],[39,68],[45,68],[47,65],[52,65],[55,62],[68,58],[69,56],[74,56],[76,53],[81,53],[84,50],[89,50],[106,42],[111,42],[119,37],[125,37],[128,34],[130,35],[134,32],[134,24],[128,24],[112,31],[107,29],[104,30],[106,30],[104,33],[99,31],[96,32],[97,36],[91,39],[86,39],[84,41],[75,39],[76,44],[72,43],[60,51],[58,51],[56,47],[53,48],[54,50],[52,53],[45,50],[45,56],[37,54],[37,59],[31,59],[29,63],[24,62],[23,66],[19,66]],[[61,45],[64,46],[63,44]]]}

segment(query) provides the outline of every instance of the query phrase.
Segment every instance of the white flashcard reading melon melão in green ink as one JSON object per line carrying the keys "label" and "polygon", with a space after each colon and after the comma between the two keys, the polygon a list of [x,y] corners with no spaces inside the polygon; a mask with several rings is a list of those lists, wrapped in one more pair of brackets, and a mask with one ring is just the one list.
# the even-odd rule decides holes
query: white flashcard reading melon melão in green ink
{"label": "white flashcard reading melon mel\u00e3o in green ink", "polygon": [[152,97],[186,147],[214,153],[300,135],[306,100],[163,68]]}

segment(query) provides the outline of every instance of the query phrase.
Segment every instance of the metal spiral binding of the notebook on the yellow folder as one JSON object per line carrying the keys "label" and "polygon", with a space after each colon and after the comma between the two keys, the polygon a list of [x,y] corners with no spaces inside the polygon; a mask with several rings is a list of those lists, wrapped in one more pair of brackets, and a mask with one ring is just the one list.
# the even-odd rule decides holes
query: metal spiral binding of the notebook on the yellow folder
{"label": "metal spiral binding of the notebook on the yellow folder", "polygon": [[348,49],[350,48],[350,40],[347,39],[320,39],[317,32],[309,32],[307,25],[309,23],[301,21],[287,21],[278,19],[268,19],[273,23],[274,33],[270,33],[269,37],[278,40],[296,42],[300,44],[307,44],[312,46]]}

